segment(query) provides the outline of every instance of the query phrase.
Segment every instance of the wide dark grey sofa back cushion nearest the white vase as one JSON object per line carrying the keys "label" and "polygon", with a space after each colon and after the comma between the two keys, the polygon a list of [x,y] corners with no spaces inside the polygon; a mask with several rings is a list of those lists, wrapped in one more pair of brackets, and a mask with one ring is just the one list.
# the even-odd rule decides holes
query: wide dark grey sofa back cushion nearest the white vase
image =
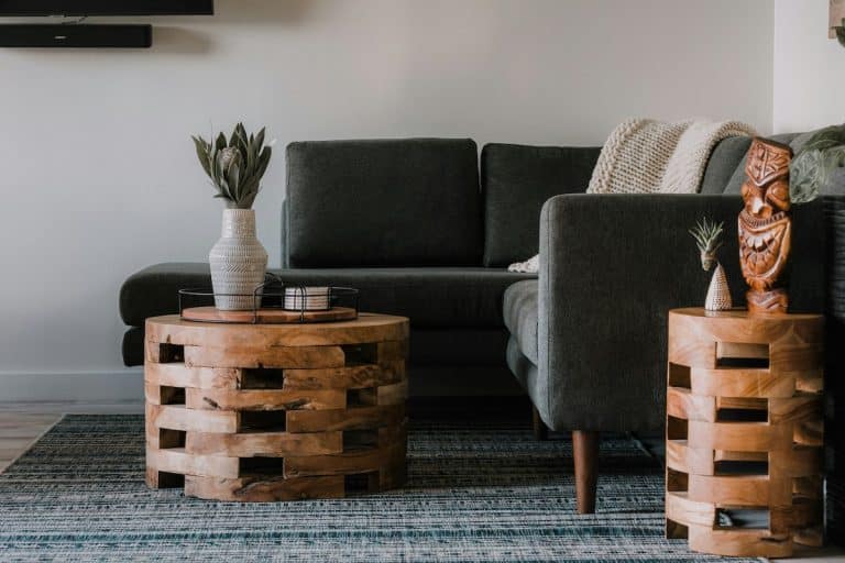
{"label": "wide dark grey sofa back cushion nearest the white vase", "polygon": [[469,139],[287,147],[292,267],[480,265],[478,148]]}

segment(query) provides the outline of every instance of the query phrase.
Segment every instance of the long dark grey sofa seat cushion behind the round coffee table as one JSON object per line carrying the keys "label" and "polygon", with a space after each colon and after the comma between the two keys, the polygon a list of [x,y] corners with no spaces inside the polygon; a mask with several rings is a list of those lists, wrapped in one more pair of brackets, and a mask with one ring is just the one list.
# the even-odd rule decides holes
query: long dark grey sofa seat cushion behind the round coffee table
{"label": "long dark grey sofa seat cushion behind the round coffee table", "polygon": [[[285,283],[349,286],[361,290],[361,310],[409,317],[414,327],[501,328],[502,298],[515,282],[536,277],[483,267],[282,269]],[[185,287],[209,287],[208,264],[160,264],[131,276],[120,295],[130,327],[178,312]]]}

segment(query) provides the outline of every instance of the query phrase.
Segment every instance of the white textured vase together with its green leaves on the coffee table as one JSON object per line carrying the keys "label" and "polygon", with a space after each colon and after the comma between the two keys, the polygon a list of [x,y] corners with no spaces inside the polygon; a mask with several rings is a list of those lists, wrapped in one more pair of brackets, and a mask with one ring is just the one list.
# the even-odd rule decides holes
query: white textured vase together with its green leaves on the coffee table
{"label": "white textured vase together with its green leaves on the coffee table", "polygon": [[213,142],[193,136],[199,164],[226,202],[220,240],[208,255],[215,306],[237,311],[261,307],[260,287],[267,269],[267,252],[255,235],[252,205],[261,191],[273,143],[265,144],[266,130],[248,134],[239,123],[231,136],[220,133]]}

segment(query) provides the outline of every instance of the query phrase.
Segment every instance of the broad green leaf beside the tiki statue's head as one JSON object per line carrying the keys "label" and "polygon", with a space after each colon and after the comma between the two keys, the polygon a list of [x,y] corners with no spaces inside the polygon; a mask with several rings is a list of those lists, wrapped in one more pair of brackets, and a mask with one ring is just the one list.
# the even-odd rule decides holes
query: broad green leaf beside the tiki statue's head
{"label": "broad green leaf beside the tiki statue's head", "polygon": [[833,125],[813,134],[789,166],[789,197],[792,203],[812,201],[833,173],[845,165],[845,128]]}

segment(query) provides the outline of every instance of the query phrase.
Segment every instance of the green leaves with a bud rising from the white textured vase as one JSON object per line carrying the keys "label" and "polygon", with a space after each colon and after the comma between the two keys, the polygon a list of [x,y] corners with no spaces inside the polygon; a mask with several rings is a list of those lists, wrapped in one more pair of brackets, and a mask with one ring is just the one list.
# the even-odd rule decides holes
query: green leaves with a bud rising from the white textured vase
{"label": "green leaves with a bud rising from the white textured vase", "polygon": [[213,143],[201,136],[191,136],[199,164],[227,207],[252,208],[261,191],[261,179],[267,172],[273,148],[264,144],[266,128],[257,135],[246,135],[243,123],[238,123],[229,139],[223,133]]}

